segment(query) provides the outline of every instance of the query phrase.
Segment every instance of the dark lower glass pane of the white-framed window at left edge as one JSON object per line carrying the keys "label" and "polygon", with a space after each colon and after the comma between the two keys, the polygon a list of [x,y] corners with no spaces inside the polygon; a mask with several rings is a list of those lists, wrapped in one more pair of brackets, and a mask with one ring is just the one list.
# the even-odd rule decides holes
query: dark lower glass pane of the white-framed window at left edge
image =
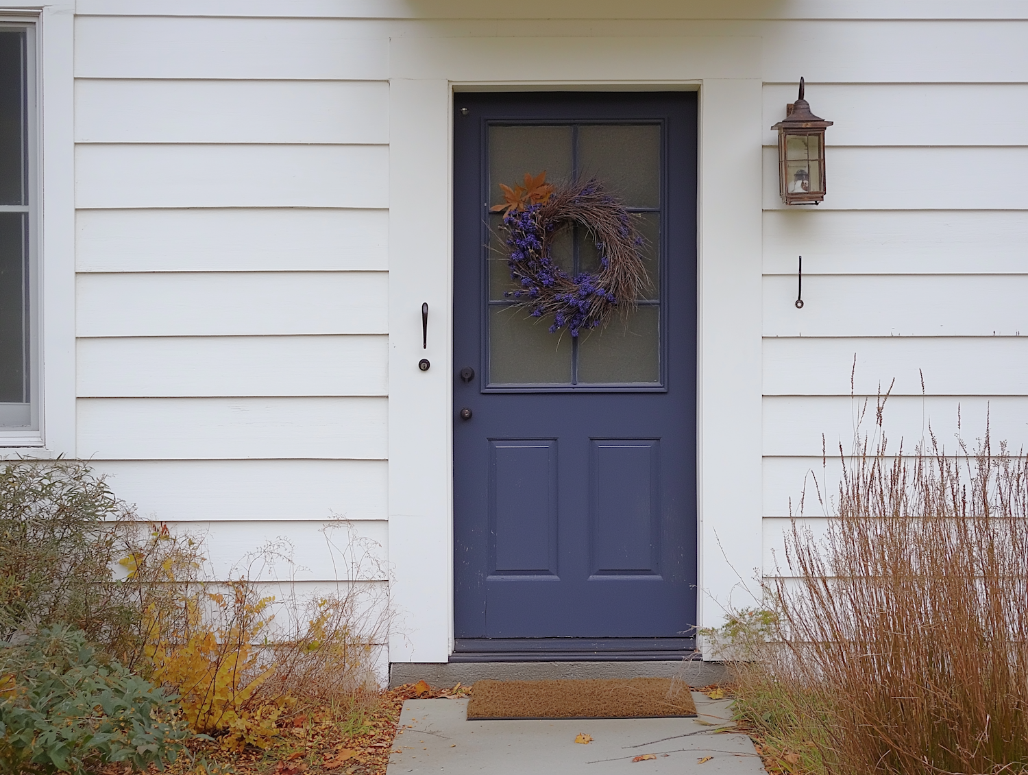
{"label": "dark lower glass pane of the white-framed window at left edge", "polygon": [[4,403],[29,400],[27,221],[26,213],[0,213],[0,402]]}

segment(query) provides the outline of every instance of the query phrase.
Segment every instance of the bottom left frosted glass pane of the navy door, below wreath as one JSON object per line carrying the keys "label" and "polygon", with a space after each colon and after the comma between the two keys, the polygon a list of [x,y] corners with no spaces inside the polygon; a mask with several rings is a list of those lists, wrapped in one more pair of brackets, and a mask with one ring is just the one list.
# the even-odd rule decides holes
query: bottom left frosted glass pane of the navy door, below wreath
{"label": "bottom left frosted glass pane of the navy door, below wreath", "polygon": [[552,323],[517,307],[489,307],[489,383],[570,383],[572,336],[550,333]]}

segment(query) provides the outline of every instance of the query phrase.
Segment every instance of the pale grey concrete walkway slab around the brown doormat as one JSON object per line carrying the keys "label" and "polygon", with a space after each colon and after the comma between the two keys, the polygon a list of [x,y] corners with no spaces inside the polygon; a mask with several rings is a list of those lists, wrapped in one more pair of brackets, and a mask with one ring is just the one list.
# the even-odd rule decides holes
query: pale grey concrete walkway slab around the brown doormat
{"label": "pale grey concrete walkway slab around the brown doormat", "polygon": [[[761,759],[729,700],[693,692],[698,718],[479,721],[468,700],[407,700],[387,775],[757,775]],[[587,745],[575,742],[591,735]],[[632,762],[653,753],[655,760]],[[700,760],[710,756],[700,764]]]}

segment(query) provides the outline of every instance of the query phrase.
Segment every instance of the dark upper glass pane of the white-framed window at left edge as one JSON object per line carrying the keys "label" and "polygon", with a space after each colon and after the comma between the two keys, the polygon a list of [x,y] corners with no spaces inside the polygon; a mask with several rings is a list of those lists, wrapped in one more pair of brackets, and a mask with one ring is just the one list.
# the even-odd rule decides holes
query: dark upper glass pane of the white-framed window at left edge
{"label": "dark upper glass pane of the white-framed window at left edge", "polygon": [[25,205],[25,30],[0,30],[0,205]]}

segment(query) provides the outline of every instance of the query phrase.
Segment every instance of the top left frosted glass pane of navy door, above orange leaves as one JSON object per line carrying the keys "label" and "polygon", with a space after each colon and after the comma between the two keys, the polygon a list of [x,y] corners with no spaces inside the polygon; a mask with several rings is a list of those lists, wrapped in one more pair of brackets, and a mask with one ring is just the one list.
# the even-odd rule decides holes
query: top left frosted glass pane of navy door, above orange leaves
{"label": "top left frosted glass pane of navy door, above orange leaves", "polygon": [[489,127],[489,204],[504,202],[500,184],[546,171],[548,181],[572,177],[571,127]]}

